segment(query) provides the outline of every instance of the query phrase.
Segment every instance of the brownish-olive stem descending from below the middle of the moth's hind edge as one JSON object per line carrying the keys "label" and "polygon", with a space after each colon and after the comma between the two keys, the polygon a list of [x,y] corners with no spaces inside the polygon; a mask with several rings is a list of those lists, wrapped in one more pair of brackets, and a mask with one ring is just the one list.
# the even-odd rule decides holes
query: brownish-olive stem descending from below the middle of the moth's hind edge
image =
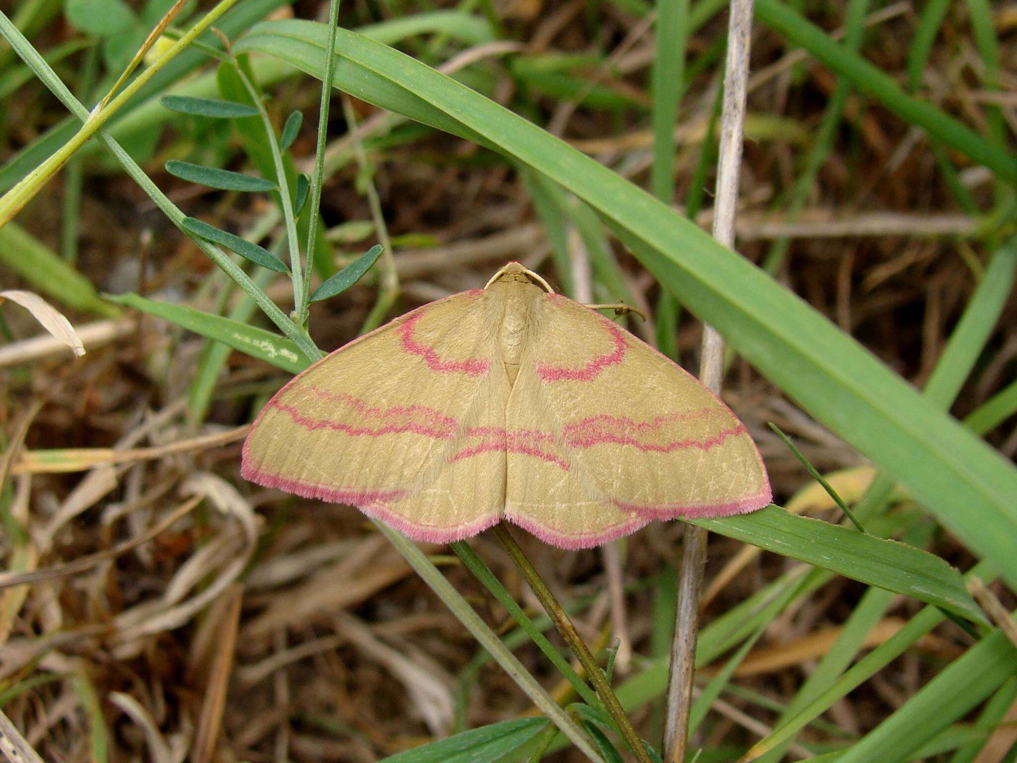
{"label": "brownish-olive stem descending from below the middle of the moth's hind edge", "polygon": [[494,526],[494,534],[501,541],[501,545],[504,546],[512,561],[519,568],[520,573],[526,578],[527,584],[540,600],[548,617],[554,622],[554,626],[558,629],[558,633],[561,634],[561,638],[565,640],[573,653],[579,658],[580,663],[586,670],[587,677],[590,679],[590,683],[593,684],[593,688],[597,692],[597,696],[604,703],[604,709],[607,710],[607,713],[614,720],[622,738],[632,748],[633,752],[636,753],[636,757],[639,758],[640,763],[651,763],[650,756],[643,746],[643,740],[636,733],[636,729],[633,728],[632,721],[625,715],[621,703],[614,696],[614,691],[607,682],[607,677],[600,669],[600,665],[594,659],[590,648],[579,635],[576,626],[573,625],[565,610],[561,608],[561,604],[554,598],[554,594],[551,593],[551,590],[544,583],[536,568],[530,563],[530,560],[523,553],[523,549],[520,548],[519,543],[516,542],[516,539],[512,536],[512,533],[503,522]]}

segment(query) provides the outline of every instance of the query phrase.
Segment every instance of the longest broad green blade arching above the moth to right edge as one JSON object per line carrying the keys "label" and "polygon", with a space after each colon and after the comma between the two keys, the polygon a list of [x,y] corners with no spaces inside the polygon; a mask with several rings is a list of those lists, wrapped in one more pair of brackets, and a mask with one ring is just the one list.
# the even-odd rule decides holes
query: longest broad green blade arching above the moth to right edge
{"label": "longest broad green blade arching above the moth to right edge", "polygon": [[[320,75],[326,33],[309,21],[268,21],[237,48]],[[339,30],[336,53],[337,86],[494,148],[589,203],[682,304],[1017,584],[1017,470],[851,337],[694,223],[537,125],[355,33]]]}

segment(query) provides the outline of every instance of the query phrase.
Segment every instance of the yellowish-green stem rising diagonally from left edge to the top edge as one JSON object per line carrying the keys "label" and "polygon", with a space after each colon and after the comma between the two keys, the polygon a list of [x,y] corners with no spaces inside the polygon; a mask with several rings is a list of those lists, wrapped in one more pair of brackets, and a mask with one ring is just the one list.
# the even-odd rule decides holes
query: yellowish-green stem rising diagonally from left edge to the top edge
{"label": "yellowish-green stem rising diagonally from left edge to the top edge", "polygon": [[[114,98],[101,109],[97,109],[95,112],[88,114],[87,117],[83,119],[83,124],[81,128],[71,137],[66,143],[61,145],[56,152],[54,152],[50,157],[43,162],[39,167],[29,172],[22,178],[13,188],[7,191],[3,197],[0,197],[0,226],[7,223],[8,220],[14,217],[21,209],[24,208],[28,201],[42,189],[42,187],[52,178],[61,167],[70,159],[74,153],[84,144],[84,142],[95,135],[99,129],[106,124],[107,120],[117,113],[120,108],[135,94],[137,93],[152,77],[154,77],[160,69],[162,69],[166,64],[172,61],[176,56],[183,51],[191,41],[201,35],[205,30],[208,28],[213,23],[216,22],[226,11],[233,7],[237,3],[237,0],[221,0],[221,2],[212,10],[210,10],[200,21],[195,23],[187,34],[184,35],[180,40],[178,40],[172,48],[170,48],[166,53],[160,56],[147,69],[138,74],[130,84],[120,92],[120,95]],[[4,16],[6,18],[6,16]],[[9,19],[8,19],[9,20]],[[16,27],[14,27],[16,31]],[[11,43],[13,47],[13,42],[7,33],[4,33],[4,37],[7,38],[8,42]],[[27,42],[27,41],[25,41]],[[29,47],[31,44],[29,44]],[[33,48],[33,50],[35,50]],[[27,63],[27,61],[26,61]],[[45,63],[45,62],[44,62]],[[36,70],[38,74],[38,70]],[[52,72],[48,66],[45,70]],[[51,76],[40,77],[43,82],[52,89],[52,82],[48,81],[51,78],[57,78],[56,73],[53,72]],[[58,79],[58,78],[57,78]]]}

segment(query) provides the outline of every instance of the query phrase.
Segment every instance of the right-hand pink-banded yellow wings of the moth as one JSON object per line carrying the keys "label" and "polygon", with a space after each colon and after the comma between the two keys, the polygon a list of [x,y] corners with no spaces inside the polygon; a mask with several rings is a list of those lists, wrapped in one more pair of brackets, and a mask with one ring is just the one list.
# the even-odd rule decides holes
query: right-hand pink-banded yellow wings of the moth
{"label": "right-hand pink-banded yellow wings of the moth", "polygon": [[[527,436],[544,438],[560,474],[549,482],[554,497],[542,498],[527,478],[534,459],[523,463],[510,448],[507,517],[536,524],[559,545],[593,545],[638,520],[727,516],[770,503],[744,425],[696,378],[561,295],[543,295],[533,324],[506,427],[539,431]],[[583,532],[592,534],[576,540]]]}

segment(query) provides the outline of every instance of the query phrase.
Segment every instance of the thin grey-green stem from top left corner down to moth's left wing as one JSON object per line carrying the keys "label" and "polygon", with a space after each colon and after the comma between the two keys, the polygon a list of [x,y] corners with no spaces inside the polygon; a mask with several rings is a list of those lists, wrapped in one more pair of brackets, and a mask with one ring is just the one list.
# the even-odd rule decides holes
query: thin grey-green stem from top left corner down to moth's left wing
{"label": "thin grey-green stem from top left corner down to moth's left wing", "polygon": [[[14,49],[15,53],[21,57],[21,59],[28,65],[28,67],[39,76],[40,79],[46,84],[47,87],[52,91],[60,102],[67,107],[70,112],[82,121],[88,119],[88,110],[84,108],[80,101],[74,98],[73,94],[67,90],[67,85],[63,83],[60,77],[57,76],[56,72],[50,67],[49,64],[39,55],[39,52],[32,46],[32,44],[18,32],[17,27],[14,26],[10,19],[0,11],[0,35],[3,35],[8,42],[10,42],[11,47]],[[136,80],[135,80],[136,81]],[[135,162],[123,148],[114,140],[110,134],[104,129],[97,130],[99,139],[103,144],[110,151],[114,159],[116,159],[124,171],[133,178],[141,189],[148,194],[149,198],[156,202],[156,206],[166,215],[174,225],[181,228],[181,224],[185,215],[180,211],[179,208],[173,201],[170,200],[156,185],[152,178],[149,178],[142,170],[137,162]],[[181,230],[183,230],[181,228]],[[220,249],[218,246],[210,244],[207,241],[194,240],[195,245],[201,249],[208,257],[212,258],[216,265],[223,269],[230,278],[232,278],[237,285],[243,289],[251,299],[257,304],[258,307],[264,312],[264,314],[271,319],[280,331],[283,332],[287,337],[293,340],[293,343],[300,348],[300,350],[307,355],[307,357],[312,360],[317,360],[323,353],[317,348],[317,345],[311,340],[307,332],[303,331],[296,324],[294,324],[285,312],[283,312],[279,305],[273,302],[268,296],[259,289],[250,277],[244,273],[244,271],[234,262],[230,256]]]}

